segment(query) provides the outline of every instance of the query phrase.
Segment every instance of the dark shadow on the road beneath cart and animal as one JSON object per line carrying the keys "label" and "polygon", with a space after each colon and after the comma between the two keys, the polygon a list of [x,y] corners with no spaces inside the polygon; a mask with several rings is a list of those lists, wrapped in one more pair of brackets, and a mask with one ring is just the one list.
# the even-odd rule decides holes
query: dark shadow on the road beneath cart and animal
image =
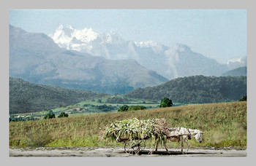
{"label": "dark shadow on the road beneath cart and animal", "polygon": [[[148,151],[148,150],[143,150],[143,151],[140,151],[139,155],[141,154],[150,154],[151,151]],[[121,151],[120,153],[126,153],[125,151]],[[135,154],[135,153],[133,153]],[[169,151],[169,153],[167,153],[167,151],[157,151],[156,152],[153,152],[153,154],[158,154],[158,155],[182,155],[181,151]],[[187,154],[217,154],[217,153],[203,153],[203,152],[187,152]]]}

